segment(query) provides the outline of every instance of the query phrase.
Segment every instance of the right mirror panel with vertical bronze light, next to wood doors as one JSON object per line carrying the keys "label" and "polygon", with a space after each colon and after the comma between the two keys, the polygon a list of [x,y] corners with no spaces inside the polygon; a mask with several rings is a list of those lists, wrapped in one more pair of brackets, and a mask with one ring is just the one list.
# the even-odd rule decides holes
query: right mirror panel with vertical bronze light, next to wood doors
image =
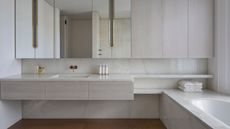
{"label": "right mirror panel with vertical bronze light, next to wood doors", "polygon": [[131,58],[131,0],[95,0],[93,7],[99,17],[94,58]]}

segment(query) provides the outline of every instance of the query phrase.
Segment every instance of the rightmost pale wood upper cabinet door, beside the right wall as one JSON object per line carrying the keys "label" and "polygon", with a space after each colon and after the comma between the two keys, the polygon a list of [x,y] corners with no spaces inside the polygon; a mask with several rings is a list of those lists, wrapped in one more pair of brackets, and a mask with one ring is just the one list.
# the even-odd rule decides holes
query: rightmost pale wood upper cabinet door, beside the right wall
{"label": "rightmost pale wood upper cabinet door, beside the right wall", "polygon": [[212,58],[214,0],[189,1],[189,57]]}

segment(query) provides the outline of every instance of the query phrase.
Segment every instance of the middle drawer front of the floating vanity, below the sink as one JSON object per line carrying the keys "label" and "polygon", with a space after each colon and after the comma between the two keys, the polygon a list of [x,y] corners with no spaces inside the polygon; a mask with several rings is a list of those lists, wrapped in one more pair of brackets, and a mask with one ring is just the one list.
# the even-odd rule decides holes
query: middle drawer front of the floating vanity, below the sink
{"label": "middle drawer front of the floating vanity, below the sink", "polygon": [[47,100],[88,100],[87,82],[49,82]]}

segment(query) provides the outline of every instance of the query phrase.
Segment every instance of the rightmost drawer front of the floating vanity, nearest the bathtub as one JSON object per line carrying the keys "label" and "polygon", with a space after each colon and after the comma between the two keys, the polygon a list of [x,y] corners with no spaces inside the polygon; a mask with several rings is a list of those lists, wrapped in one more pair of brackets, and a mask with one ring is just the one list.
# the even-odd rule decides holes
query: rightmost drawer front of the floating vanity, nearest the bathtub
{"label": "rightmost drawer front of the floating vanity, nearest the bathtub", "polygon": [[91,82],[90,100],[133,100],[132,82]]}

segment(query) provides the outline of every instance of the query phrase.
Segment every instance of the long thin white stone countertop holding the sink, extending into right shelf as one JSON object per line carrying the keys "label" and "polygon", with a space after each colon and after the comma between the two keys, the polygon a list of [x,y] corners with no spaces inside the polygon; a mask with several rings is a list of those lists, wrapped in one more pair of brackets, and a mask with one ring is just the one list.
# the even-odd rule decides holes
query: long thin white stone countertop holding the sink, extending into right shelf
{"label": "long thin white stone countertop holding the sink, extending into right shelf", "polygon": [[0,81],[134,81],[137,78],[213,78],[213,75],[189,74],[18,74],[0,79]]}

